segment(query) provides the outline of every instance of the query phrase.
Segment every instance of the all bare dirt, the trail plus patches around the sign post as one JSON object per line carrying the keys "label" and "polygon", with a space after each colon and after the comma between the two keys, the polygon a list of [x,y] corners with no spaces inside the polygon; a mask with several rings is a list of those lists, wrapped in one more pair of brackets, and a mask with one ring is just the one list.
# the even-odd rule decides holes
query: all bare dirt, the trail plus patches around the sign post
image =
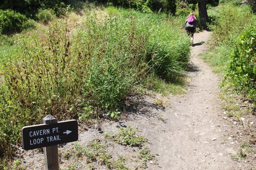
{"label": "all bare dirt, the trail plus patches around the sign post", "polygon": [[[121,127],[140,129],[140,135],[148,138],[145,145],[149,146],[151,153],[156,156],[158,165],[148,161],[147,169],[180,170],[180,169],[209,169],[232,170],[240,169],[230,154],[235,154],[229,143],[225,143],[224,134],[229,132],[228,124],[221,119],[223,110],[218,99],[220,78],[214,75],[207,64],[203,63],[198,54],[206,50],[205,43],[210,32],[196,33],[194,36],[195,47],[192,48],[192,71],[188,85],[188,94],[183,97],[169,96],[168,99],[161,95],[138,99],[136,108],[129,108],[127,119],[122,122],[96,123],[94,128],[79,132],[79,144],[86,145],[88,141],[103,139],[103,132],[110,130],[116,133]],[[156,100],[165,100],[171,107],[158,107]],[[100,127],[100,128],[99,128]],[[227,137],[226,137],[227,138]],[[61,153],[74,148],[68,143],[60,147]],[[141,148],[131,148],[112,144],[107,151],[115,159],[117,154],[132,158]],[[25,152],[23,165],[26,169],[43,169],[43,153],[36,150]],[[60,167],[67,168],[70,163],[77,160],[60,158]],[[37,164],[33,164],[37,162]],[[79,169],[87,169],[85,160],[79,159]],[[79,163],[78,162],[78,163]],[[134,162],[127,161],[126,165],[133,167]],[[96,169],[107,169],[97,166]]]}

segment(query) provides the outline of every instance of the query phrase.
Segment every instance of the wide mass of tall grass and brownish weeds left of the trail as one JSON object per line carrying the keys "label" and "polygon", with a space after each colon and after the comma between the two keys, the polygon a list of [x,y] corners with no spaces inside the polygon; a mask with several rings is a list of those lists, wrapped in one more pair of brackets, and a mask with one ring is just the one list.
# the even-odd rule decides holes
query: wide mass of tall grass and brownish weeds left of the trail
{"label": "wide mass of tall grass and brownish weeds left of the trail", "polygon": [[81,27],[55,20],[44,35],[21,41],[18,53],[2,55],[1,155],[9,143],[20,142],[22,126],[40,123],[47,114],[63,120],[118,113],[134,85],[150,75],[177,80],[190,48],[174,20],[136,11],[103,17],[89,11]]}

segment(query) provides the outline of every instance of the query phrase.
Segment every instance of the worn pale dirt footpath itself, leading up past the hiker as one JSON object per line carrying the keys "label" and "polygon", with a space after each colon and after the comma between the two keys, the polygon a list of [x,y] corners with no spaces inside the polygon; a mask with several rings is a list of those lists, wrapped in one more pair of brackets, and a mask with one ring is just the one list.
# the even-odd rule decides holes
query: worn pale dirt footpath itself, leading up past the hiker
{"label": "worn pale dirt footpath itself, leading up past the hiker", "polygon": [[[233,152],[223,144],[229,125],[221,121],[223,112],[218,101],[220,78],[203,63],[198,54],[206,50],[204,42],[210,32],[195,34],[192,48],[193,70],[188,94],[172,97],[173,109],[163,112],[165,124],[158,129],[159,138],[152,139],[152,152],[158,152],[163,169],[235,169]],[[203,44],[202,44],[203,43]],[[154,144],[156,142],[156,144]],[[163,158],[163,159],[162,159]]]}

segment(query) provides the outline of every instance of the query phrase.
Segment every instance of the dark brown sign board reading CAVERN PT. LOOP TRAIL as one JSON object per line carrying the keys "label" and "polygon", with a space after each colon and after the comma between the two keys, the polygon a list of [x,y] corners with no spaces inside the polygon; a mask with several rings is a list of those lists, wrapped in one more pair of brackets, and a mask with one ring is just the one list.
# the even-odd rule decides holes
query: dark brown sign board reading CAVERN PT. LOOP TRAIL
{"label": "dark brown sign board reading CAVERN PT. LOOP TRAIL", "polygon": [[25,126],[21,129],[24,150],[48,147],[78,140],[76,120]]}

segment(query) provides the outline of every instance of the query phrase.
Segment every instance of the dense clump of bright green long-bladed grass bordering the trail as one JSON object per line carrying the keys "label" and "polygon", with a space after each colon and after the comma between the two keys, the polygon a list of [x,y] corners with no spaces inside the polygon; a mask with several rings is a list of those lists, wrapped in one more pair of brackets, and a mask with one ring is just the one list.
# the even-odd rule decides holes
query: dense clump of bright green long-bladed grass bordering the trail
{"label": "dense clump of bright green long-bladed grass bordering the trail", "polygon": [[[134,15],[136,17],[138,13]],[[141,29],[148,28],[148,51],[151,53],[147,61],[160,78],[175,82],[183,74],[190,59],[188,37],[180,29],[183,21],[180,18],[152,14],[140,14],[137,18],[137,25]]]}

